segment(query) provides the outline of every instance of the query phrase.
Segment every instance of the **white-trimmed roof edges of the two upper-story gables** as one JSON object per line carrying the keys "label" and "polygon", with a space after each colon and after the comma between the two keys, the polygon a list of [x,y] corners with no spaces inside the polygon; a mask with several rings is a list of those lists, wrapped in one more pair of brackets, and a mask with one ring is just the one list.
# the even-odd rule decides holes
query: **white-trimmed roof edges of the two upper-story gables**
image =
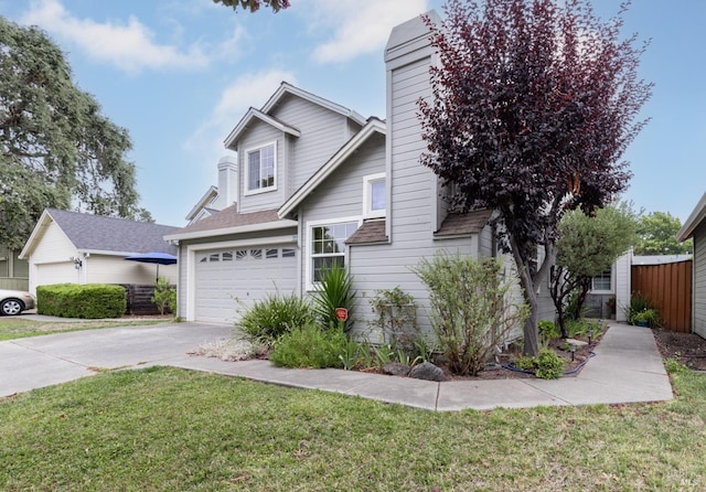
{"label": "white-trimmed roof edges of the two upper-story gables", "polygon": [[235,126],[235,128],[231,131],[228,137],[225,139],[225,142],[224,142],[225,147],[231,148],[231,146],[234,142],[236,142],[238,138],[240,138],[240,136],[243,135],[243,131],[248,127],[253,118],[258,118],[269,125],[272,125],[275,128],[278,128],[281,131],[286,131],[288,133],[295,135],[296,137],[299,137],[299,130],[268,115],[269,111],[271,111],[280,103],[280,100],[288,94],[300,97],[304,100],[319,105],[331,111],[338,113],[339,115],[344,116],[346,118],[351,118],[353,121],[357,122],[361,126],[365,125],[365,118],[363,118],[361,115],[353,111],[352,109],[349,109],[344,106],[332,103],[328,99],[324,99],[323,97],[317,96],[315,94],[311,94],[311,93],[308,93],[307,90],[302,90],[299,87],[295,87],[293,85],[287,82],[282,82],[279,85],[279,88],[275,92],[275,94],[270,96],[270,98],[267,100],[267,103],[265,103],[261,109],[259,110],[255,108],[248,109],[245,116],[240,119],[240,121]]}

